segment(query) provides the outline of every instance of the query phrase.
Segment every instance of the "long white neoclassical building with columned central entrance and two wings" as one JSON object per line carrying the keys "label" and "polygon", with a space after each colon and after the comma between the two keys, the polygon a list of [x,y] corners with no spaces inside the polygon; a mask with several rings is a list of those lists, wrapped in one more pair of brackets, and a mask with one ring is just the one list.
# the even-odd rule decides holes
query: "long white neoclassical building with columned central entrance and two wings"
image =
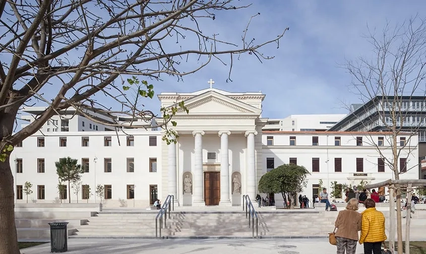
{"label": "long white neoclassical building with columned central entrance and two wings", "polygon": [[[63,112],[13,151],[16,202],[26,202],[23,188],[27,181],[33,185],[29,202],[67,202],[68,194],[58,192],[54,166],[65,156],[78,159],[85,172],[72,202],[77,198],[99,202],[99,197],[87,197],[82,190],[89,186],[95,194],[101,185],[106,207],[146,207],[169,194],[178,206],[237,206],[242,195],[255,198],[260,178],[283,163],[303,165],[310,171],[303,191],[308,197],[317,193],[320,180],[330,187],[334,181],[358,184],[392,178],[386,164],[392,156],[388,133],[262,131],[268,118],[262,116],[265,95],[260,92],[209,88],[161,93],[158,98],[162,107],[184,101],[189,109],[174,116],[176,144],[167,145],[161,139],[163,133],[152,129],[116,134],[104,126],[88,128],[89,121],[82,116],[66,121],[69,128],[62,128],[60,119],[73,114]],[[40,110],[28,108],[26,112]],[[47,131],[52,124],[56,130]],[[398,142],[404,147],[398,162],[405,172],[401,178],[417,179],[417,139],[401,135]],[[276,201],[280,196],[276,195]]]}

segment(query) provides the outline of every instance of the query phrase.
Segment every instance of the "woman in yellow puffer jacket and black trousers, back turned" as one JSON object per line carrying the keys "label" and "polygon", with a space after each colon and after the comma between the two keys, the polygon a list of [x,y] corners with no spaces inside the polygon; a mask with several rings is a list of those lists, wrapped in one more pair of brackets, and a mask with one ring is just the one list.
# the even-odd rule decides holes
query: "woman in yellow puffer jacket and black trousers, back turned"
{"label": "woman in yellow puffer jacket and black trousers, back turned", "polygon": [[376,210],[376,202],[366,199],[367,208],[362,214],[361,236],[359,244],[364,244],[364,254],[381,254],[382,242],[386,240],[385,216]]}

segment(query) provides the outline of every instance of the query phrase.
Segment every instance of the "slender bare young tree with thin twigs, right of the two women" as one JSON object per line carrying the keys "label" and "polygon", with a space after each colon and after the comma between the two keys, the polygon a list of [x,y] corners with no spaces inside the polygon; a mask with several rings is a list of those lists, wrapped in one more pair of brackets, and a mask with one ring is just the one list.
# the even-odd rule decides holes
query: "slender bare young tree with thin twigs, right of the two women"
{"label": "slender bare young tree with thin twigs, right of the two women", "polygon": [[[401,174],[418,170],[417,163],[407,168],[406,158],[416,154],[413,153],[417,149],[416,139],[424,138],[426,130],[426,20],[414,17],[394,29],[388,24],[381,33],[370,31],[367,38],[373,46],[373,58],[360,57],[345,65],[353,77],[352,87],[363,104],[351,109],[348,118],[353,122],[348,121],[341,130],[385,131],[382,140],[378,135],[369,135],[369,140],[361,142],[374,145],[382,158],[378,163],[388,165],[394,179],[399,180]],[[354,126],[354,122],[360,125]],[[389,156],[390,149],[392,156]],[[399,185],[395,186],[395,193],[398,254],[402,254]],[[390,200],[393,201],[393,197]]]}

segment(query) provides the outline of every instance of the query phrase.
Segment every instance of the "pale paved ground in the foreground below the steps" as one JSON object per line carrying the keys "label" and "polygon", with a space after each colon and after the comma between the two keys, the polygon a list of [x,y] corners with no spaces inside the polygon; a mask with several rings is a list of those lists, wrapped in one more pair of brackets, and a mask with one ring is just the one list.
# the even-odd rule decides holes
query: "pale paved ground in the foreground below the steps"
{"label": "pale paved ground in the foreground below the steps", "polygon": [[[336,246],[328,239],[208,239],[208,240],[116,240],[70,239],[72,254],[318,254],[335,253]],[[362,253],[357,244],[356,253]],[[23,249],[22,254],[50,253],[50,243]]]}

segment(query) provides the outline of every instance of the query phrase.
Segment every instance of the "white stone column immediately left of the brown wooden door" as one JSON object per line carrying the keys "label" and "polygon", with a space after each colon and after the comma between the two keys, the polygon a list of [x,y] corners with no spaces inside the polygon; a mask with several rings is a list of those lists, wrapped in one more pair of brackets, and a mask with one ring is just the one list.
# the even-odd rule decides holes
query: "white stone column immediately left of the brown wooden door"
{"label": "white stone column immediately left of the brown wooden door", "polygon": [[195,137],[194,172],[193,172],[193,206],[205,206],[203,174],[203,135],[204,131],[193,131]]}

